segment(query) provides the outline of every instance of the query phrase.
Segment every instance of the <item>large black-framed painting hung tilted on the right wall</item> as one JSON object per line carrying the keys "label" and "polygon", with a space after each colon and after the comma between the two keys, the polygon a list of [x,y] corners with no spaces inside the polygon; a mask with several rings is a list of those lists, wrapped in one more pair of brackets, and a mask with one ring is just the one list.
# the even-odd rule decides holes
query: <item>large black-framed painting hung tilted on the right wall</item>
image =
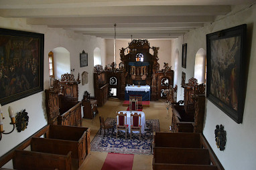
{"label": "large black-framed painting hung tilted on the right wall", "polygon": [[243,122],[246,28],[239,25],[206,35],[206,97],[237,123]]}

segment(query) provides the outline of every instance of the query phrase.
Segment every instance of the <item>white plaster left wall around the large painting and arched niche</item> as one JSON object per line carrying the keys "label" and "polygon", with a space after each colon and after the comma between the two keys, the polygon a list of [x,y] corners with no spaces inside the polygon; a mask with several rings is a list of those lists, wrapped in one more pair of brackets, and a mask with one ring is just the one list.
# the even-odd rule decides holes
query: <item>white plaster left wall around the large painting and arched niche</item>
{"label": "white plaster left wall around the large painting and arched niche", "polygon": [[[101,49],[104,63],[106,59],[105,40],[97,37],[91,37],[89,35],[74,33],[73,31],[65,31],[64,29],[51,29],[43,25],[27,25],[25,19],[5,19],[0,17],[0,27],[19,31],[44,33],[44,89],[48,89],[50,87],[48,53],[56,47],[64,47],[70,52],[70,66],[71,69],[74,69],[75,77],[77,77],[78,73],[82,75],[83,71],[88,72],[88,84],[82,86],[82,83],[80,83],[79,85],[79,100],[82,99],[82,94],[85,90],[94,95],[92,76],[94,68],[93,49],[96,47]],[[79,53],[82,53],[82,50],[88,53],[88,66],[80,68]],[[4,119],[3,128],[7,132],[12,128],[11,125],[9,125],[10,120],[7,111],[9,105],[13,107],[13,111],[15,112],[26,109],[29,115],[29,123],[27,129],[21,133],[17,133],[17,130],[14,130],[13,133],[9,135],[3,135],[3,139],[0,141],[0,156],[7,153],[7,151],[27,139],[27,137],[36,133],[36,131],[40,130],[47,124],[44,91],[36,93],[35,95],[30,95],[29,97],[25,97],[19,101],[3,105],[3,116],[7,118]]]}

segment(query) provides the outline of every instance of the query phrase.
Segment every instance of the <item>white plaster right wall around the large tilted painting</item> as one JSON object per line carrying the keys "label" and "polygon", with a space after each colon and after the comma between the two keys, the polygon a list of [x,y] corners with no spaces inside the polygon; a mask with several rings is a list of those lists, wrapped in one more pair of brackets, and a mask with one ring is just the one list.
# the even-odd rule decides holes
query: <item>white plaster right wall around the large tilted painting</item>
{"label": "white plaster right wall around the large tilted painting", "polygon": [[[239,10],[237,10],[239,11]],[[232,12],[231,12],[232,13]],[[222,163],[225,169],[255,169],[256,167],[256,7],[253,5],[249,9],[240,10],[239,13],[231,14],[222,19],[218,18],[212,24],[205,25],[200,29],[190,31],[174,41],[173,49],[182,51],[182,43],[188,43],[187,69],[179,69],[178,75],[178,99],[183,99],[181,92],[181,71],[186,73],[186,83],[188,79],[194,76],[194,59],[198,49],[206,49],[206,34],[235,27],[237,25],[247,24],[247,55],[249,57],[249,74],[247,81],[247,93],[245,99],[245,111],[243,114],[243,123],[237,124],[233,119],[223,113],[218,107],[206,100],[206,118],[204,122],[204,135],[210,143],[214,153]],[[174,53],[174,52],[173,52]],[[181,63],[180,53],[180,63]],[[217,149],[214,141],[214,129],[216,125],[224,125],[227,131],[227,145],[225,151]]]}

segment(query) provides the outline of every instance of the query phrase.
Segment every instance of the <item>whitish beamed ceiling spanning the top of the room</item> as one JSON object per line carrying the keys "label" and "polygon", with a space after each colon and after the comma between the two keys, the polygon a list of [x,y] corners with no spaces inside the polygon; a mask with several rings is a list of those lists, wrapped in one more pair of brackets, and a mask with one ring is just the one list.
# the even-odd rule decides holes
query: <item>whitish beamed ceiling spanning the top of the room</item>
{"label": "whitish beamed ceiling spanning the top of the room", "polygon": [[0,17],[113,39],[171,39],[255,0],[1,0]]}

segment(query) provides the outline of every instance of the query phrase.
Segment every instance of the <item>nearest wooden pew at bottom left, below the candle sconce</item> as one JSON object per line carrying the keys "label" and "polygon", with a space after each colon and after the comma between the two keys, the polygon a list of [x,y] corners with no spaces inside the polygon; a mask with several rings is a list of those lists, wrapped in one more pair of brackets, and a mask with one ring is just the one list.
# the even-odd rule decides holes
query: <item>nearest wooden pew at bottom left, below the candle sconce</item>
{"label": "nearest wooden pew at bottom left, below the candle sconce", "polygon": [[65,155],[16,150],[13,157],[14,169],[64,169],[71,170],[71,151]]}

